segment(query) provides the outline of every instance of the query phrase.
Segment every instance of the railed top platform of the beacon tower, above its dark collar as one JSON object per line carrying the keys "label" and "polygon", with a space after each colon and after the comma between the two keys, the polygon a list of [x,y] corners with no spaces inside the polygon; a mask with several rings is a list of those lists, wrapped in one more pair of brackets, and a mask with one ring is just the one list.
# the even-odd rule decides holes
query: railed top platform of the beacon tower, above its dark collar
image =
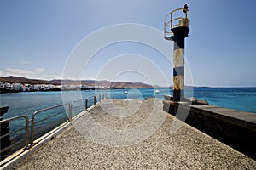
{"label": "railed top platform of the beacon tower, above its dark collar", "polygon": [[189,27],[189,9],[177,8],[166,14],[164,20],[164,37],[169,38],[173,35],[172,29],[180,26]]}

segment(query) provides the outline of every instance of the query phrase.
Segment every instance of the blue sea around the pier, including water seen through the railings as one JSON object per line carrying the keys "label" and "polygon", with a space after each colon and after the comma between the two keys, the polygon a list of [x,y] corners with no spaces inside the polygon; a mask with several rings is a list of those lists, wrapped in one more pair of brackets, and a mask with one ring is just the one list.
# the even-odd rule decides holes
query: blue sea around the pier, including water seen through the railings
{"label": "blue sea around the pier, including water seen through the railings", "polygon": [[[107,95],[112,99],[145,99],[155,97],[164,99],[165,94],[172,95],[172,89],[160,88],[159,93],[154,93],[154,89],[111,89],[111,90],[86,90],[86,91],[64,91],[64,92],[21,92],[15,94],[0,94],[0,106],[9,106],[9,111],[3,117],[26,115],[30,119],[34,111],[42,110],[53,105],[61,105],[74,100],[89,98],[88,105],[93,105],[92,96],[99,94]],[[124,92],[128,91],[128,94]],[[194,96],[196,99],[205,99],[210,105],[218,105],[238,111],[248,111],[256,113],[256,88],[187,88],[185,96]],[[61,122],[67,121],[67,107],[55,108],[45,111],[44,114],[37,116],[38,120],[44,119],[55,112],[60,112],[58,116],[37,123],[35,126],[35,136],[39,137],[43,133],[58,126]],[[73,116],[84,111],[84,102],[79,101],[73,104]],[[56,121],[58,120],[58,121]],[[23,120],[22,120],[23,121]],[[25,121],[21,120],[10,122],[10,131],[24,127]],[[30,122],[31,123],[31,122]],[[25,133],[14,133],[11,140],[24,139]]]}

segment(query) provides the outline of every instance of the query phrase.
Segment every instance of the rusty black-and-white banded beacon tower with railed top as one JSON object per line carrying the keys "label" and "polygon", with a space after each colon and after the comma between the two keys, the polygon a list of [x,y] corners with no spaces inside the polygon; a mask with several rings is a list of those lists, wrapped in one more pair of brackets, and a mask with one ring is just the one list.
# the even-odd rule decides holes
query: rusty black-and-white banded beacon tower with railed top
{"label": "rusty black-and-white banded beacon tower with railed top", "polygon": [[[175,18],[174,18],[175,14]],[[183,16],[179,16],[183,15]],[[171,20],[169,20],[170,18]],[[167,20],[167,21],[166,21]],[[170,36],[171,35],[171,36]],[[184,48],[185,37],[189,36],[189,9],[187,4],[166,15],[165,39],[174,42],[173,48],[173,100],[184,99]]]}

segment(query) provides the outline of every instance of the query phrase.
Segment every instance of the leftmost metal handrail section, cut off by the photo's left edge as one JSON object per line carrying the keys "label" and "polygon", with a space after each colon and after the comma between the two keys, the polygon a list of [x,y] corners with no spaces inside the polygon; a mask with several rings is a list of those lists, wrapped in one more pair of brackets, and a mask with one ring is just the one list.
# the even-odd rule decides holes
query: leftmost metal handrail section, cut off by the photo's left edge
{"label": "leftmost metal handrail section, cut off by the photo's left edge", "polygon": [[[13,120],[15,120],[15,119],[20,119],[20,118],[24,118],[25,121],[26,121],[26,127],[25,127],[25,129],[26,129],[25,149],[27,149],[27,148],[28,148],[28,144],[29,144],[29,119],[28,119],[28,116],[20,115],[20,116],[11,117],[11,118],[9,118],[9,119],[4,119],[3,121],[0,121],[0,124],[2,124],[2,123],[4,123],[4,122],[10,122],[10,121],[13,121]],[[18,131],[20,131],[20,130],[23,130],[23,129],[24,129],[24,127],[19,128],[18,130],[15,130],[15,132],[6,133],[5,135],[0,136],[0,139],[4,138],[4,137],[6,137],[6,136],[8,136],[8,135],[10,135],[10,134],[12,134],[12,133],[16,133],[16,132],[18,132]],[[15,144],[20,143],[20,142],[21,142],[21,140],[15,142]],[[10,149],[12,146],[14,146],[15,144],[11,144],[11,145],[9,145],[8,147],[3,148],[3,150],[0,150],[0,153],[2,153],[2,152],[5,151],[5,150],[9,150],[9,149]]]}

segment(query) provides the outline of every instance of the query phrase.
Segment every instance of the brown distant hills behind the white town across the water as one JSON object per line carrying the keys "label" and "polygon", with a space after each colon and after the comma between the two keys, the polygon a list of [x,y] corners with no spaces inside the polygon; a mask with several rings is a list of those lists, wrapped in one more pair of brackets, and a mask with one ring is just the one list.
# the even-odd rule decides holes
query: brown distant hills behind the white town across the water
{"label": "brown distant hills behind the white town across the water", "polygon": [[110,88],[153,88],[151,85],[148,85],[143,82],[110,82],[107,80],[96,81],[96,80],[38,80],[38,79],[29,79],[26,77],[0,77],[0,82],[9,82],[9,83],[23,83],[23,84],[54,84],[54,85],[78,85],[83,84],[87,86],[104,86]]}

